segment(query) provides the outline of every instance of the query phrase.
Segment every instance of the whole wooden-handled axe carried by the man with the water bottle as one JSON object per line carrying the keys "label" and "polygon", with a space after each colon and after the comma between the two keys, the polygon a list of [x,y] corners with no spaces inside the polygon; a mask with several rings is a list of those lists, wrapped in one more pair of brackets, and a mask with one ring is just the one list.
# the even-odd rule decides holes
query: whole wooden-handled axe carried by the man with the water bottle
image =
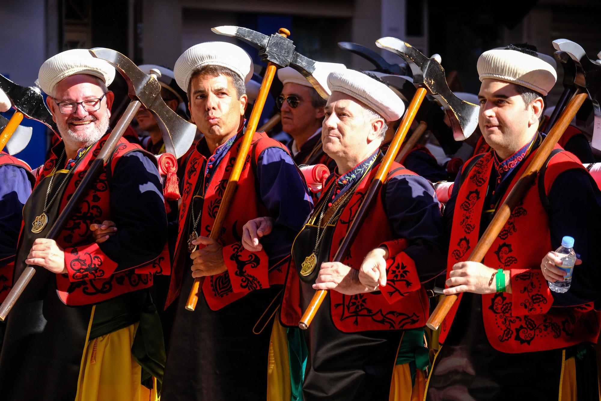
{"label": "whole wooden-handled axe carried by the man with the water bottle", "polygon": [[[511,188],[511,191],[498,207],[495,216],[490,221],[486,231],[478,240],[478,243],[474,246],[474,250],[469,256],[469,262],[482,262],[484,256],[489,251],[493,241],[501,232],[505,223],[511,216],[513,209],[522,201],[522,198],[526,194],[529,188],[532,186],[532,182],[537,176],[540,169],[545,164],[546,159],[551,154],[553,148],[557,144],[557,141],[561,138],[566,128],[570,125],[572,118],[578,112],[582,103],[590,97],[593,100],[593,106],[595,111],[596,123],[601,117],[599,112],[599,100],[601,97],[601,65],[594,63],[589,60],[586,52],[582,47],[573,41],[567,39],[558,39],[553,41],[553,46],[558,51],[566,52],[573,61],[576,63],[576,93],[570,99],[570,102],[566,105],[563,112],[557,122],[551,127],[549,133],[543,140],[542,144],[538,147],[534,156],[526,165],[525,170],[517,180],[516,185]],[[597,125],[598,126],[598,125]],[[430,315],[430,319],[426,325],[433,329],[438,330],[441,326],[448,311],[451,310],[455,301],[457,301],[457,295],[444,296],[436,305],[435,310]]]}

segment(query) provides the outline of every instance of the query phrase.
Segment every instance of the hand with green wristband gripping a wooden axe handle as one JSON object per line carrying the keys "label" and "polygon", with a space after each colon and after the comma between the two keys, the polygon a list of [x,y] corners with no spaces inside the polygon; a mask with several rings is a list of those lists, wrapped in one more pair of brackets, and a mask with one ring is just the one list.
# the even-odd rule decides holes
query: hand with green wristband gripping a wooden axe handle
{"label": "hand with green wristband gripping a wooden axe handle", "polygon": [[[475,294],[493,294],[496,292],[496,269],[484,266],[478,262],[459,262],[453,266],[449,274],[445,288],[445,295],[453,295],[460,292],[473,292]],[[511,293],[511,274],[505,273],[505,292]]]}

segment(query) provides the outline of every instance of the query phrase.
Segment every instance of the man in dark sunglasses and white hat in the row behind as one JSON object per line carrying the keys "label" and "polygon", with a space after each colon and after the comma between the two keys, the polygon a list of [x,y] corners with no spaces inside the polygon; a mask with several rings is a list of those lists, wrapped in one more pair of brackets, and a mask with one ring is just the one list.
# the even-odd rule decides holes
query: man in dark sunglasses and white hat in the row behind
{"label": "man in dark sunglasses and white hat in the row behind", "polygon": [[[346,69],[344,64],[316,63],[314,78],[328,91],[326,79],[334,70]],[[284,84],[276,99],[282,115],[282,130],[292,136],[288,149],[297,165],[325,164],[335,167],[335,162],[322,149],[323,99],[313,85],[292,67],[278,70],[278,78]]]}

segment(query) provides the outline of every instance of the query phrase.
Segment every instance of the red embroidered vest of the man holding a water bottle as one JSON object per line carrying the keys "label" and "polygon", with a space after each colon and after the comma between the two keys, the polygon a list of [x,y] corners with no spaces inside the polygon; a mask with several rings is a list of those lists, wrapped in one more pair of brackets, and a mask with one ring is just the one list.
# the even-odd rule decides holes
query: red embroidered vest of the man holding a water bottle
{"label": "red embroidered vest of the man holding a water bottle", "polygon": [[[535,152],[536,150],[532,153]],[[465,165],[468,164],[466,162]],[[447,278],[453,265],[468,259],[478,242],[480,218],[486,207],[484,198],[492,165],[492,152],[481,156],[465,176],[457,194]],[[517,171],[504,198],[522,175],[525,165]],[[572,153],[560,152],[552,157],[545,173],[546,193],[548,194],[559,174],[572,168],[582,168]],[[526,192],[522,204],[513,210],[482,262],[493,269],[511,269],[511,294],[482,295],[486,337],[501,352],[532,352],[559,349],[584,341],[594,343],[599,335],[600,316],[593,310],[593,304],[551,308],[551,290],[540,271],[540,261],[552,250],[551,236],[548,216],[540,201],[536,182],[537,180]],[[441,343],[447,337],[461,299],[462,295],[459,295],[458,301],[442,323],[439,338]]]}

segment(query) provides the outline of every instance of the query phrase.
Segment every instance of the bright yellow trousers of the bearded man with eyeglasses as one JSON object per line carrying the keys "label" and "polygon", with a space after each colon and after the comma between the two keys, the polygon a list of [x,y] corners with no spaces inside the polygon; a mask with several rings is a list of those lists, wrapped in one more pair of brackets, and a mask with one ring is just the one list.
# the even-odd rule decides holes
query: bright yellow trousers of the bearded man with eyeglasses
{"label": "bright yellow trousers of the bearded man with eyeglasses", "polygon": [[142,367],[132,355],[138,323],[97,338],[84,350],[76,401],[157,401],[153,390],[140,384]]}

